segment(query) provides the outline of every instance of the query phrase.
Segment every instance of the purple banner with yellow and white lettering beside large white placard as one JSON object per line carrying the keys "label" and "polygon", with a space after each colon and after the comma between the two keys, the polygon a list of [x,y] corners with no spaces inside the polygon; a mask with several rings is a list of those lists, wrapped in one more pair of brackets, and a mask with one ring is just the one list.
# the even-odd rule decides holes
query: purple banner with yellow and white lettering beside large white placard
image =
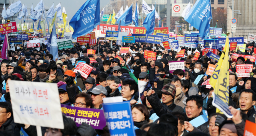
{"label": "purple banner with yellow and white lettering beside large white placard", "polygon": [[94,129],[102,130],[104,126],[106,126],[103,110],[73,107],[61,104],[61,111],[67,116],[67,118],[74,120],[77,127],[84,122],[92,126]]}

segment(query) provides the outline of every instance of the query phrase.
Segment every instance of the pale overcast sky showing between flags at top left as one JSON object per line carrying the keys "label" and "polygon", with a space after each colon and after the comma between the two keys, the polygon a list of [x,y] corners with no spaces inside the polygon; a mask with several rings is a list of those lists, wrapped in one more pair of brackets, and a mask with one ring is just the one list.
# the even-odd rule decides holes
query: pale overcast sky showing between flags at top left
{"label": "pale overcast sky showing between flags at top left", "polygon": [[[10,0],[10,2],[16,2],[17,0]],[[65,7],[66,13],[68,15],[68,21],[74,16],[77,10],[86,2],[86,0],[43,0],[44,8],[50,8],[54,2],[54,7],[61,3],[61,9]],[[31,4],[35,7],[40,0],[21,0],[22,5],[27,4],[27,8],[31,8]],[[108,4],[109,0],[100,0],[100,7]],[[7,8],[7,7],[6,7]],[[100,8],[102,10],[102,8]],[[30,10],[28,10],[30,13]]]}

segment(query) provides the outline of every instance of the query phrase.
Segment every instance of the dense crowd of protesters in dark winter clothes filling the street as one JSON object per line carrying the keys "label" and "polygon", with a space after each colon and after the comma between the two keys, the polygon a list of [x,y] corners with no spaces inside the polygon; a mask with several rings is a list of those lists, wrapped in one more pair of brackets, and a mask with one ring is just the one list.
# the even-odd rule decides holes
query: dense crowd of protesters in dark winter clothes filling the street
{"label": "dense crowd of protesters in dark winter clothes filling the street", "polygon": [[[58,49],[59,58],[42,44],[40,50],[26,48],[25,44],[15,45],[15,51],[8,52],[8,60],[1,62],[2,86],[0,89],[0,135],[19,136],[21,128],[28,136],[36,136],[36,126],[17,124],[14,122],[8,82],[22,80],[27,82],[47,82],[57,84],[60,103],[82,108],[103,109],[103,99],[122,96],[132,106],[132,119],[136,128],[136,136],[243,136],[245,121],[255,122],[256,76],[255,64],[249,59],[238,57],[237,62],[230,58],[230,92],[229,108],[233,118],[216,113],[212,105],[214,88],[206,88],[203,78],[195,84],[199,75],[206,72],[208,64],[217,64],[215,60],[202,55],[202,46],[185,49],[185,57],[177,57],[173,49],[166,50],[159,44],[126,43],[122,47],[130,47],[130,51],[121,54],[120,45],[115,42],[100,42],[100,45],[82,46],[74,43],[74,48]],[[229,52],[255,56],[254,43],[246,45],[245,52],[232,50]],[[248,48],[249,47],[249,48]],[[96,50],[95,55],[88,55],[87,50]],[[144,58],[144,51],[152,50],[162,56],[156,61]],[[194,60],[195,51],[200,52],[198,60]],[[99,54],[98,54],[99,52]],[[220,56],[222,52],[218,50]],[[120,61],[116,56],[122,58]],[[94,58],[97,63],[90,63]],[[93,67],[88,78],[74,72],[78,61],[84,61]],[[169,71],[169,63],[184,60],[185,70]],[[254,64],[253,72],[248,78],[238,78],[236,64]],[[138,80],[146,81],[143,92],[138,92]],[[232,88],[235,88],[231,92]],[[140,101],[139,99],[140,95]],[[208,122],[198,127],[190,121],[207,111]],[[44,136],[110,136],[108,126],[103,130],[94,130],[83,123],[76,127],[75,122],[63,115],[64,129],[44,128]],[[199,120],[200,122],[200,120]]]}

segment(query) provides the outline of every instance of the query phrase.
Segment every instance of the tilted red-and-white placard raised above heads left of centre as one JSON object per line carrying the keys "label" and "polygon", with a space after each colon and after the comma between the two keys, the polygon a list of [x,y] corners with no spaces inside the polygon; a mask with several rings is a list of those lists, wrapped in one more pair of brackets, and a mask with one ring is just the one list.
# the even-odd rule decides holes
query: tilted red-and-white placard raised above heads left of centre
{"label": "tilted red-and-white placard raised above heads left of centre", "polygon": [[92,66],[86,64],[86,62],[80,60],[77,62],[74,72],[80,72],[81,76],[87,78],[92,71]]}

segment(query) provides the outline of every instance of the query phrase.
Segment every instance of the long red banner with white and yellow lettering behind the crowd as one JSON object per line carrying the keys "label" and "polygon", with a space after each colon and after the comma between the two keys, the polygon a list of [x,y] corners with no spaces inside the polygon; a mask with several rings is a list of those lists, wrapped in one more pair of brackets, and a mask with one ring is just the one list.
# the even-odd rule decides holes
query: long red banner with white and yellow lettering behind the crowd
{"label": "long red banner with white and yellow lettering behind the crowd", "polygon": [[[118,25],[110,25],[110,24],[100,24],[97,26],[97,30],[100,30],[101,34],[106,34],[107,30],[109,31],[117,31]],[[127,32],[127,36],[132,36],[132,34],[146,34],[146,28],[144,27],[134,27],[134,26],[122,26],[121,32]],[[156,33],[168,34],[169,30],[168,27],[160,27],[154,28],[154,35]]]}

